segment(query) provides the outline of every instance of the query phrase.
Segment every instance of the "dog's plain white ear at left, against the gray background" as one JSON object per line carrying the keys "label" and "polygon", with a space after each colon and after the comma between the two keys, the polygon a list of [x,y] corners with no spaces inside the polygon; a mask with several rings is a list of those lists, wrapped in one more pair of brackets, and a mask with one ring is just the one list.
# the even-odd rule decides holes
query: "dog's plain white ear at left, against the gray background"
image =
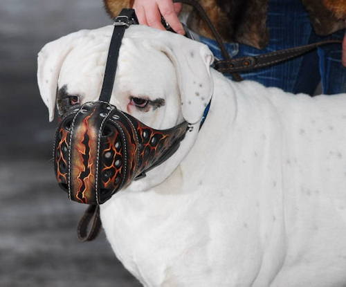
{"label": "dog's plain white ear at left, against the gray background", "polygon": [[46,44],[37,57],[37,82],[39,93],[49,112],[49,120],[54,119],[55,98],[57,95],[57,80],[64,59],[73,50],[77,40],[86,35],[86,30],[81,30],[61,37]]}

